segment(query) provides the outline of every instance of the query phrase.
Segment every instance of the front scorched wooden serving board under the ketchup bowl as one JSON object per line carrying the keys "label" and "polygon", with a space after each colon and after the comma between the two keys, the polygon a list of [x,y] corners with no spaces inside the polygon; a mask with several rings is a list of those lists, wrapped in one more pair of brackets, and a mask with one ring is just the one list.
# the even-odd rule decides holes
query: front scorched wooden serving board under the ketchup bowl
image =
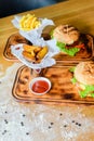
{"label": "front scorched wooden serving board under the ketchup bowl", "polygon": [[94,104],[93,98],[81,99],[75,85],[71,84],[70,66],[54,66],[43,69],[41,76],[49,78],[52,88],[44,95],[35,95],[29,89],[29,82],[35,77],[33,70],[22,66],[15,77],[12,89],[14,99],[18,102],[43,104]]}

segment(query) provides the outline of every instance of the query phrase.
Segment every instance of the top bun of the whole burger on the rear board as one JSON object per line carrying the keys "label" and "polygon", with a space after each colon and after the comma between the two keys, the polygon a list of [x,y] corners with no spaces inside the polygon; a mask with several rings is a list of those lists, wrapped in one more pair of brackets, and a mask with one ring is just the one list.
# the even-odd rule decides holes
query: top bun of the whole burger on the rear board
{"label": "top bun of the whole burger on the rear board", "polygon": [[75,41],[79,39],[80,33],[73,26],[69,25],[59,25],[53,31],[53,37],[66,44],[72,44]]}

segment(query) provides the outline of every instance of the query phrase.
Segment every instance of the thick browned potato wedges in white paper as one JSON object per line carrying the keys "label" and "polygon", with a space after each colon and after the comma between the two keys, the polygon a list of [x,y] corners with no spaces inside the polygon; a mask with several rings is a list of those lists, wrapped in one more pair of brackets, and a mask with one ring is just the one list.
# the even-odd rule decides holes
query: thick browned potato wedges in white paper
{"label": "thick browned potato wedges in white paper", "polygon": [[39,63],[48,53],[48,47],[23,46],[23,56],[30,62]]}

